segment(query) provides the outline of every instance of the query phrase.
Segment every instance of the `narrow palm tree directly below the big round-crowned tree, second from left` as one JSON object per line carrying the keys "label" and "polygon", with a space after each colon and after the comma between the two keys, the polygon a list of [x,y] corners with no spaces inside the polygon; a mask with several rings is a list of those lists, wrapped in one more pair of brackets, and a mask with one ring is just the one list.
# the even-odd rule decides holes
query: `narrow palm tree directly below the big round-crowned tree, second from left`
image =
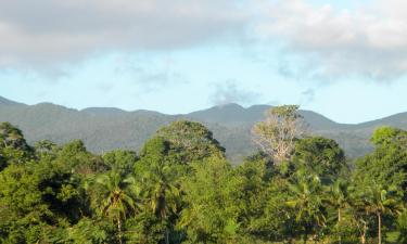
{"label": "narrow palm tree directly below the big round-crowned tree, second from left", "polygon": [[[153,162],[143,177],[148,205],[162,221],[167,220],[168,213],[177,211],[180,192],[174,178],[174,168],[163,160]],[[165,242],[168,244],[168,228],[165,231]]]}

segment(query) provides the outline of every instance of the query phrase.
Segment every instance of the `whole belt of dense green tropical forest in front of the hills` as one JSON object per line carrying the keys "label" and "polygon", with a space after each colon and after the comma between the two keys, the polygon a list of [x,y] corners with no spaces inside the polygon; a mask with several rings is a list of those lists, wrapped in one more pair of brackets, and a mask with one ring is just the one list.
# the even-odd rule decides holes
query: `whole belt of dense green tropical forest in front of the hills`
{"label": "whole belt of dense green tropical forest in front of the hills", "polygon": [[269,110],[238,166],[195,121],[101,155],[0,124],[0,243],[407,243],[407,131],[351,160],[297,108]]}

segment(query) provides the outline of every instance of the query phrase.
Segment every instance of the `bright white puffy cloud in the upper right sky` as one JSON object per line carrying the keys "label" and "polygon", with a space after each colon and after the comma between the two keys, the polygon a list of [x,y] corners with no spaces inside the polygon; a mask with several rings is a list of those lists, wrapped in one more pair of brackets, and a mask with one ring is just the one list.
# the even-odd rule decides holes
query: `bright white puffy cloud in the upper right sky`
{"label": "bright white puffy cloud in the upper right sky", "polygon": [[263,5],[256,34],[330,77],[392,79],[407,72],[407,2],[377,0],[355,10],[278,0]]}

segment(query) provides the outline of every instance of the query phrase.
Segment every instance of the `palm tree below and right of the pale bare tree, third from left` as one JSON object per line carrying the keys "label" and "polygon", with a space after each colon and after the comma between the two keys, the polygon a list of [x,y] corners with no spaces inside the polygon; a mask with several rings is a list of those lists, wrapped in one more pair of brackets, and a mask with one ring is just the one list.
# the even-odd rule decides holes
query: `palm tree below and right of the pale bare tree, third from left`
{"label": "palm tree below and right of the pale bare tree, third from left", "polygon": [[305,227],[304,243],[307,243],[313,229],[323,227],[326,222],[322,185],[319,177],[300,172],[296,183],[290,184],[289,188],[293,196],[287,204],[297,211],[295,220]]}

